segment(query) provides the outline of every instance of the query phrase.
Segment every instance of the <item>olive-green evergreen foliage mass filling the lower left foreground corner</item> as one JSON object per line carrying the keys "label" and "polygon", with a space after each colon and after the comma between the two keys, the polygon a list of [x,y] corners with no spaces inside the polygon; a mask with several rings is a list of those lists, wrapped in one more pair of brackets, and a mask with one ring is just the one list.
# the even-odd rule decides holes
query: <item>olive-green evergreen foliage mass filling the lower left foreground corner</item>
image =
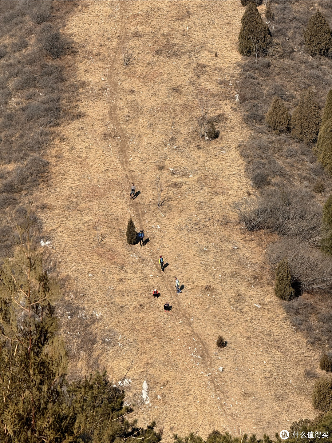
{"label": "olive-green evergreen foliage mass filling the lower left foreground corner", "polygon": [[67,356],[54,309],[56,290],[31,239],[31,219],[0,268],[1,443],[157,443],[161,435],[129,422],[132,409],[106,373],[68,385]]}

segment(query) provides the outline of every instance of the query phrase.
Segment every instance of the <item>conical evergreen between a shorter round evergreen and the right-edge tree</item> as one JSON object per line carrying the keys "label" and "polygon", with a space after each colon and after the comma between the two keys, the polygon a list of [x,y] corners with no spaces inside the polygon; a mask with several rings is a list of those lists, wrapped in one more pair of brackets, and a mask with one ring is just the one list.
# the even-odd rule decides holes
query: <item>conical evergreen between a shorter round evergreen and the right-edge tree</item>
{"label": "conical evergreen between a shorter round evergreen and the right-edge tree", "polygon": [[302,94],[300,103],[293,112],[292,135],[305,144],[315,143],[319,125],[319,107],[315,101],[313,90],[309,88]]}

